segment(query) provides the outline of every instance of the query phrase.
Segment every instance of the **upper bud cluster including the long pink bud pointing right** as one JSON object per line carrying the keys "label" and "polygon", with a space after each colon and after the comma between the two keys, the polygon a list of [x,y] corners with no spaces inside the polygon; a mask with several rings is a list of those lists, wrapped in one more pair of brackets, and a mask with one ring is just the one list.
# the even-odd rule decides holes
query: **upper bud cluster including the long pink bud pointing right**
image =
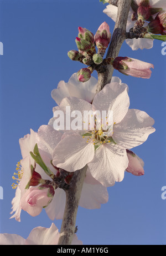
{"label": "upper bud cluster including the long pink bud pointing right", "polygon": [[[162,18],[160,18],[162,19]],[[71,50],[68,56],[72,61],[80,61],[89,65],[87,68],[81,68],[77,72],[79,82],[87,82],[91,78],[92,72],[96,69],[102,70],[105,65],[112,65],[123,74],[133,77],[150,78],[153,64],[139,61],[128,57],[106,58],[103,56],[111,40],[110,27],[103,22],[98,28],[95,36],[88,29],[79,27],[79,35],[76,37],[76,44],[79,51]],[[98,52],[96,53],[95,45]]]}

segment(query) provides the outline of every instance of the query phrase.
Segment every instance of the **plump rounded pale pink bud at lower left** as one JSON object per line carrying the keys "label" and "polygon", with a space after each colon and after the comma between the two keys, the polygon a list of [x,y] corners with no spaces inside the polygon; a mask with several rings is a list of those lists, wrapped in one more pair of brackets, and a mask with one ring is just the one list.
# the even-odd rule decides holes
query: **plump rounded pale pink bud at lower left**
{"label": "plump rounded pale pink bud at lower left", "polygon": [[54,188],[51,185],[40,185],[39,187],[31,187],[23,195],[20,200],[20,207],[35,217],[42,212],[54,196]]}

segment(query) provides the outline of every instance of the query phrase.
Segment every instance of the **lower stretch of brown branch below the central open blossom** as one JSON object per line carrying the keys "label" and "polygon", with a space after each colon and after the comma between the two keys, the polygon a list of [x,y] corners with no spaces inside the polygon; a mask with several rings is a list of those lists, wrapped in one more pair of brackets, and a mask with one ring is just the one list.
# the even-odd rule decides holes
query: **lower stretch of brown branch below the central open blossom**
{"label": "lower stretch of brown branch below the central open blossom", "polygon": [[76,215],[86,175],[87,165],[74,172],[69,189],[66,192],[66,205],[61,224],[59,245],[70,245],[76,228]]}

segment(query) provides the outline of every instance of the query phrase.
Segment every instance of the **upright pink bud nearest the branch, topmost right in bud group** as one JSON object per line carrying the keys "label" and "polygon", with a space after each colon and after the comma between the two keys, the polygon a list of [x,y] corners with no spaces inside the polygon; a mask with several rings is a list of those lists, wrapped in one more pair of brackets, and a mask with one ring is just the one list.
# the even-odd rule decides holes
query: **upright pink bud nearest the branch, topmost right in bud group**
{"label": "upright pink bud nearest the branch, topmost right in bud group", "polygon": [[97,48],[107,48],[111,41],[110,27],[103,22],[95,34],[95,43]]}

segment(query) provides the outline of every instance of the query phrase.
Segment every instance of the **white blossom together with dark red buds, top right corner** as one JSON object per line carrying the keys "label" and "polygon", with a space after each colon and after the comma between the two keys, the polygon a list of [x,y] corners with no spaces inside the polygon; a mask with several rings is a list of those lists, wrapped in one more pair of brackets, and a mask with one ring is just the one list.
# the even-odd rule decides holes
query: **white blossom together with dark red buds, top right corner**
{"label": "white blossom together with dark red buds, top right corner", "polygon": [[[152,48],[153,39],[166,40],[165,10],[166,2],[163,0],[132,0],[126,27],[126,43],[133,50]],[[108,4],[103,12],[116,21],[118,7]]]}

